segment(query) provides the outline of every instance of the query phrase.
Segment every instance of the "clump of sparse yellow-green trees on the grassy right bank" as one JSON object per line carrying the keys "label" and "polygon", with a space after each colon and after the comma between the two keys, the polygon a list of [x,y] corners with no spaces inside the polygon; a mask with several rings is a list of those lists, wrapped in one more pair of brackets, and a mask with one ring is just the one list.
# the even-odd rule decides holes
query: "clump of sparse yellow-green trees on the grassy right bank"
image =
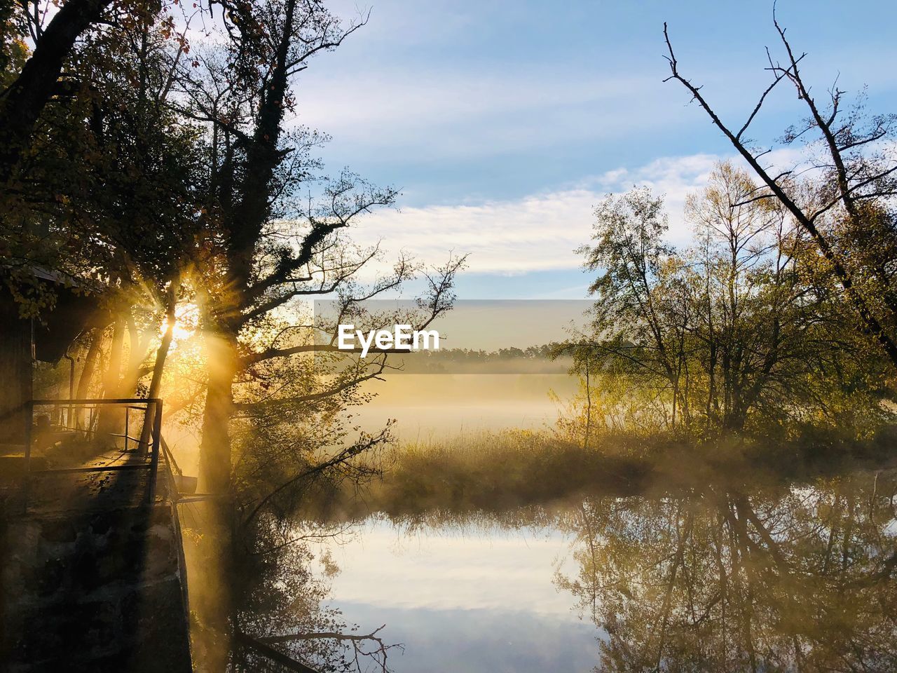
{"label": "clump of sparse yellow-green trees on the grassy right bank", "polygon": [[597,207],[596,242],[580,249],[598,274],[592,332],[565,347],[588,367],[598,426],[623,415],[630,428],[789,433],[825,419],[865,433],[884,420],[875,354],[845,328],[806,233],[757,191],[719,164],[688,199],[684,250],[664,242],[662,200],[645,189]]}

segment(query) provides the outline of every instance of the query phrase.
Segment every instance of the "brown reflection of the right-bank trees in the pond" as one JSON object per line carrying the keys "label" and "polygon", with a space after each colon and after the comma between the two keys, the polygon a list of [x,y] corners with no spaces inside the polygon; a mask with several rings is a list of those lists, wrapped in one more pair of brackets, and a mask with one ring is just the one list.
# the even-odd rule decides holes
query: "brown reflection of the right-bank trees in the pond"
{"label": "brown reflection of the right-bank trees in the pond", "polygon": [[587,499],[564,519],[601,669],[897,670],[894,476]]}

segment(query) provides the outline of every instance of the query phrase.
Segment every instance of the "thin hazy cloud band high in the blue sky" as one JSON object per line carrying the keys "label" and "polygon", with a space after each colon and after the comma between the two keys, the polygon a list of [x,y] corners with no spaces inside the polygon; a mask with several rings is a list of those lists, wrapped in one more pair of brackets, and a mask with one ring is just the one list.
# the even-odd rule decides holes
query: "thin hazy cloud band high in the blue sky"
{"label": "thin hazy cloud band high in the blue sky", "polygon": [[657,73],[568,66],[309,70],[299,92],[299,123],[356,155],[423,162],[618,138],[656,126],[658,109],[666,126],[692,117],[681,92],[658,86]]}

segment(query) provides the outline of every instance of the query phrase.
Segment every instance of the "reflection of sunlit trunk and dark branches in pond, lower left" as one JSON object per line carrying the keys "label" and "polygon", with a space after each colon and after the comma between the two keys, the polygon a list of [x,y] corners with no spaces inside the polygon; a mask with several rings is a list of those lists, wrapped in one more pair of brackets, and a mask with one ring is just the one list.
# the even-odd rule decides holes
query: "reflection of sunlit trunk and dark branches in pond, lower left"
{"label": "reflection of sunlit trunk and dark branches in pond, lower left", "polygon": [[190,576],[197,670],[388,673],[403,646],[386,625],[362,628],[328,605],[340,571],[319,543],[346,541],[352,524],[265,517],[241,532],[228,555],[222,536],[189,536],[193,568],[205,571]]}

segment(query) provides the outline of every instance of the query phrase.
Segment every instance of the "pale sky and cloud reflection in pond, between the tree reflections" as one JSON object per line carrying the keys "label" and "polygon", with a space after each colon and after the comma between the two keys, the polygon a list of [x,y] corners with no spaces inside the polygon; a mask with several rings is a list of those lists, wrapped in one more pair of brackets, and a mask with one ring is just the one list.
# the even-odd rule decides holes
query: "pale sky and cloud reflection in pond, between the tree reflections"
{"label": "pale sky and cloud reflection in pond, between the tree reflections", "polygon": [[552,584],[570,537],[538,526],[454,518],[420,525],[371,517],[329,546],[341,569],[333,606],[361,624],[386,624],[405,651],[395,671],[588,670],[594,628]]}

